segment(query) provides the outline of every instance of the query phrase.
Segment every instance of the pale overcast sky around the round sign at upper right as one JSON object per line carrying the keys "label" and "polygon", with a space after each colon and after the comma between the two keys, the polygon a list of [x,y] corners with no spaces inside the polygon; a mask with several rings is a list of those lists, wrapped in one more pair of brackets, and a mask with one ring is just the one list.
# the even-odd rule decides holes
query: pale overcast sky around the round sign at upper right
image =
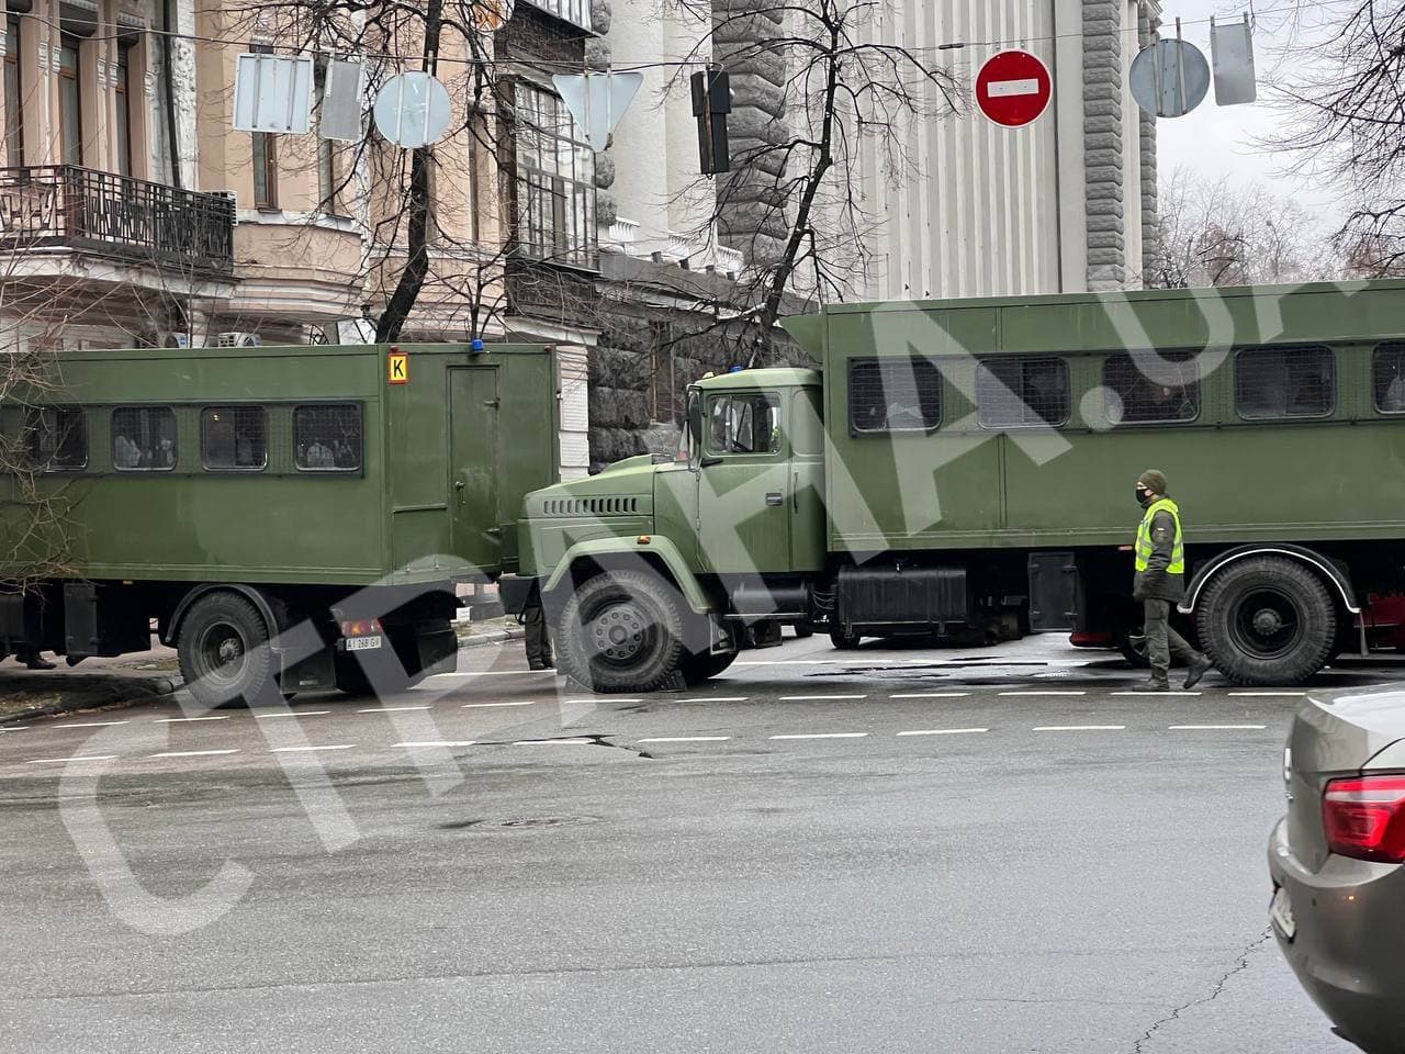
{"label": "pale overcast sky around the round sign at upper right", "polygon": [[[1273,67],[1287,41],[1283,0],[1255,0],[1263,11],[1256,18],[1255,58],[1260,73],[1260,101],[1250,105],[1218,107],[1214,89],[1193,112],[1175,119],[1162,119],[1158,128],[1159,166],[1163,176],[1176,167],[1190,167],[1213,177],[1228,176],[1236,183],[1263,183],[1277,194],[1297,198],[1302,205],[1332,223],[1338,205],[1332,195],[1308,180],[1287,174],[1287,159],[1255,149],[1256,136],[1272,135],[1281,128],[1283,115],[1262,101],[1262,74]],[[1210,59],[1210,15],[1234,21],[1249,10],[1245,3],[1227,0],[1163,0],[1166,25],[1162,37],[1176,35],[1176,17],[1184,22],[1184,37]],[[1274,14],[1273,8],[1280,8]],[[1190,24],[1194,22],[1194,24]]]}

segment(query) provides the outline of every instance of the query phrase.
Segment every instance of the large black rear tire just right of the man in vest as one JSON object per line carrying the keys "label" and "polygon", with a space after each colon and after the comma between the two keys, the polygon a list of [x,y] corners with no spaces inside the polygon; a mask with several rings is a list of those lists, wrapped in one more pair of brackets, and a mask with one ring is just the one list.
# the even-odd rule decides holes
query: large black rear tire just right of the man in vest
{"label": "large black rear tire just right of the man in vest", "polygon": [[1322,579],[1297,561],[1250,557],[1205,587],[1200,637],[1236,684],[1301,684],[1336,642],[1336,606]]}

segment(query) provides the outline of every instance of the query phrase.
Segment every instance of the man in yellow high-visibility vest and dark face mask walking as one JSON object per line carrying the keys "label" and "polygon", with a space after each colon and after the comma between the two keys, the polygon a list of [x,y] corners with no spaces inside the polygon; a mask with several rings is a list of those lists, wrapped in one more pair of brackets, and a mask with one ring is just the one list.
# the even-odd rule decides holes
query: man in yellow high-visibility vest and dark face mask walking
{"label": "man in yellow high-visibility vest and dark face mask walking", "polygon": [[1137,528],[1137,578],[1132,597],[1142,601],[1146,652],[1151,659],[1151,691],[1170,691],[1170,658],[1189,668],[1189,691],[1211,668],[1210,659],[1170,628],[1170,606],[1186,596],[1186,549],[1180,509],[1166,496],[1166,474],[1148,468],[1137,479],[1137,503],[1145,509]]}

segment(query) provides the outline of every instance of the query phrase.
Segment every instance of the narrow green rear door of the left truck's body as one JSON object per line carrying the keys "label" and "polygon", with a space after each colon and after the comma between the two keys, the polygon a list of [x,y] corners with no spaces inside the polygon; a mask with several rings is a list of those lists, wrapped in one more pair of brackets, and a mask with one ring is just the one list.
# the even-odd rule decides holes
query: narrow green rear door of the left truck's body
{"label": "narrow green rear door of the left truck's body", "polygon": [[450,519],[454,555],[495,568],[502,547],[497,509],[497,370],[448,371]]}

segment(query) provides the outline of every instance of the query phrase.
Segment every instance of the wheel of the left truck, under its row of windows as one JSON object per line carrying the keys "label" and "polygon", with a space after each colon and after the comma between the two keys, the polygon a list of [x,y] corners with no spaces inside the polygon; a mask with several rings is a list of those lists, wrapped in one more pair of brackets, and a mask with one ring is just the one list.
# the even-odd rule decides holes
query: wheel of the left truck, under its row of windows
{"label": "wheel of the left truck, under its row of windows", "polygon": [[207,707],[256,703],[274,679],[268,627],[237,593],[207,593],[181,621],[176,656],[185,687]]}

